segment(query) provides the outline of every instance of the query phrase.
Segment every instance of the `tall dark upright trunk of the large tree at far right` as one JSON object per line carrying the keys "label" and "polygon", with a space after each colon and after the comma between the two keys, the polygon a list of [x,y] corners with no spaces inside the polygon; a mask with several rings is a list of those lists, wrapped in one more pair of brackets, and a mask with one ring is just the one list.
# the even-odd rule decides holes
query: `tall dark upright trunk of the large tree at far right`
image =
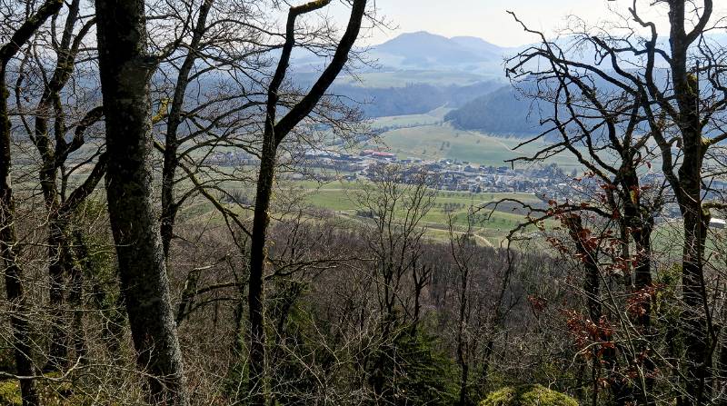
{"label": "tall dark upright trunk of the large tree at far right", "polygon": [[685,32],[683,1],[670,2],[672,85],[679,106],[677,125],[682,135],[682,165],[674,194],[684,222],[682,252],[682,330],[688,362],[684,404],[704,404],[710,398],[712,379],[712,329],[704,286],[704,248],[709,213],[702,210],[702,141],[699,79],[689,72],[688,50],[693,41]]}

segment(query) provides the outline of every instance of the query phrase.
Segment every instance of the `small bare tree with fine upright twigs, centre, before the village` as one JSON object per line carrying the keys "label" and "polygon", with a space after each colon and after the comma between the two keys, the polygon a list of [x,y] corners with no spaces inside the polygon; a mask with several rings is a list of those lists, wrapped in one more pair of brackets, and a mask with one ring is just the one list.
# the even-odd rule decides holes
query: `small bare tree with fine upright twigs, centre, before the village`
{"label": "small bare tree with fine upright twigs, centre, before the village", "polygon": [[423,217],[433,207],[434,175],[417,168],[382,163],[370,168],[372,182],[355,197],[365,217],[363,232],[373,256],[371,278],[376,288],[381,342],[366,354],[365,369],[373,395],[391,401],[397,371],[396,338],[415,336],[420,322],[423,289],[431,282],[433,265],[423,260]]}

